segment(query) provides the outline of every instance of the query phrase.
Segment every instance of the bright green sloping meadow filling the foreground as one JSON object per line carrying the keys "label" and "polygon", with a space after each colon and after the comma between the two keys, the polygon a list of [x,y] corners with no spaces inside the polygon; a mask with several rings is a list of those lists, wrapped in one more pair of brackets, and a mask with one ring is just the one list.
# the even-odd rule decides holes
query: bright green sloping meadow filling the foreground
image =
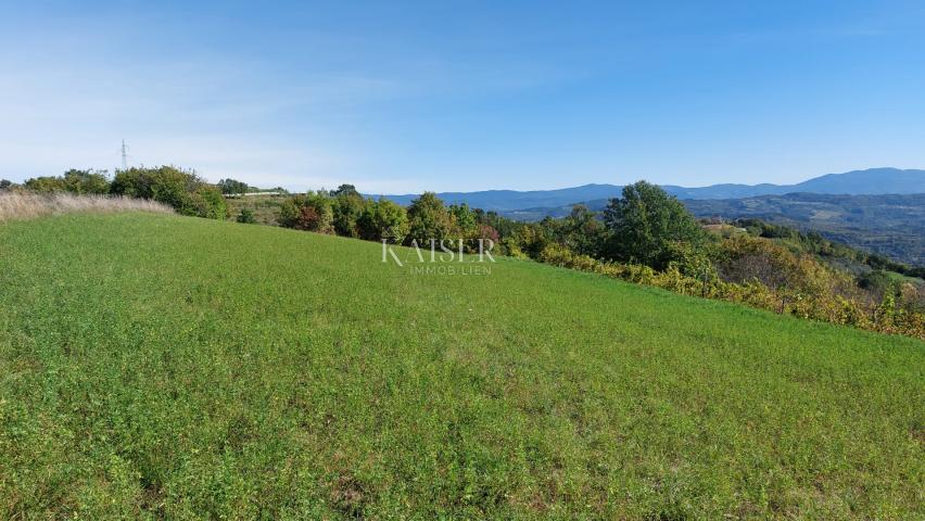
{"label": "bright green sloping meadow filling the foreground", "polygon": [[925,344],[167,215],[0,226],[0,519],[922,519]]}

